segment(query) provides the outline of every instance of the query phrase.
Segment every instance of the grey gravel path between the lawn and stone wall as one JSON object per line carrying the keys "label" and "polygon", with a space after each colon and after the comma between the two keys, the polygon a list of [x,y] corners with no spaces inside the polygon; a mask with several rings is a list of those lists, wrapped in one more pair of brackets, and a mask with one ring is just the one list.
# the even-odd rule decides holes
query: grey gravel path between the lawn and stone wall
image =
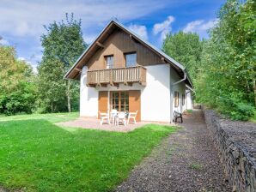
{"label": "grey gravel path between the lawn and stone wall", "polygon": [[131,171],[117,191],[231,191],[206,129],[202,111],[185,116],[170,135]]}

